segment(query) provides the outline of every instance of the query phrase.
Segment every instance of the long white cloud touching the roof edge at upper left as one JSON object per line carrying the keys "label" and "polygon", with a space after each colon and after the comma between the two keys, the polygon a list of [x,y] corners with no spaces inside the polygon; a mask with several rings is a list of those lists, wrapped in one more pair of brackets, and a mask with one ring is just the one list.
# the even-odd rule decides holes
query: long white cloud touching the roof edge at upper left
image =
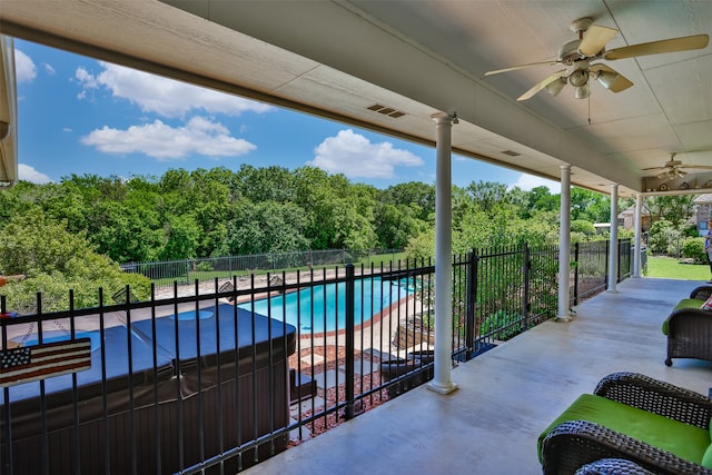
{"label": "long white cloud touching the roof edge at upper left", "polygon": [[239,116],[247,111],[261,113],[274,109],[266,103],[122,66],[107,62],[99,65],[103,70],[98,75],[92,75],[83,68],[78,68],[75,72],[75,79],[82,88],[78,95],[79,99],[86,98],[89,90],[106,88],[113,97],[127,99],[145,112],[156,112],[170,118],[184,117],[192,110]]}

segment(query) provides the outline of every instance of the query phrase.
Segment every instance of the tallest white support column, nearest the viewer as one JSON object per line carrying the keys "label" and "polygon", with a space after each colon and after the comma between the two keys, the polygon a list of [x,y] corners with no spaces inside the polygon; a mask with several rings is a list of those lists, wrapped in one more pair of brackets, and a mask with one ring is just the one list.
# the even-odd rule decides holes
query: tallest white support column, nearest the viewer
{"label": "tallest white support column, nearest the viewer", "polygon": [[436,136],[435,175],[435,372],[427,385],[439,394],[457,389],[453,384],[453,117],[433,116]]}

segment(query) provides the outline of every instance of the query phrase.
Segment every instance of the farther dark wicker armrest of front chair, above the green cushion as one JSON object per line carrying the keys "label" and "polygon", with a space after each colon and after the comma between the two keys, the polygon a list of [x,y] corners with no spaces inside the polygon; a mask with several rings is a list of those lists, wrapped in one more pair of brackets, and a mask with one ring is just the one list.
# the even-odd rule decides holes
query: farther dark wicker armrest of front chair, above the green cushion
{"label": "farther dark wicker armrest of front chair, above the green cushion", "polygon": [[594,394],[700,428],[710,428],[712,399],[645,375],[611,374],[599,382]]}

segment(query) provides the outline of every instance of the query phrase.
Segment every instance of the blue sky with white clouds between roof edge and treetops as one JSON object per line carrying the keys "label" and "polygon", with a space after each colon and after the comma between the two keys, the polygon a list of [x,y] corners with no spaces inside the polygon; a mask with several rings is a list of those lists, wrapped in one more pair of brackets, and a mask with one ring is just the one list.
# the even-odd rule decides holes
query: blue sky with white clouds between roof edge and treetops
{"label": "blue sky with white clouds between roof edge and treetops", "polygon": [[[387,188],[435,182],[435,150],[16,40],[20,179],[160,177],[171,168],[316,166]],[[453,182],[558,184],[455,156]]]}

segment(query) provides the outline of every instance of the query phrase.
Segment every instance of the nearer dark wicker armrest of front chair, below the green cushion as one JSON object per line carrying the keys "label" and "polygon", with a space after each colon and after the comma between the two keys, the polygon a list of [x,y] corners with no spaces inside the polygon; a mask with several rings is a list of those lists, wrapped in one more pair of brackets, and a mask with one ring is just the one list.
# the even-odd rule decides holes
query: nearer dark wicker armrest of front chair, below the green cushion
{"label": "nearer dark wicker armrest of front chair, below the green cushion", "polygon": [[712,475],[712,469],[587,420],[562,423],[542,442],[545,475],[574,474],[601,458],[625,458],[660,475]]}

